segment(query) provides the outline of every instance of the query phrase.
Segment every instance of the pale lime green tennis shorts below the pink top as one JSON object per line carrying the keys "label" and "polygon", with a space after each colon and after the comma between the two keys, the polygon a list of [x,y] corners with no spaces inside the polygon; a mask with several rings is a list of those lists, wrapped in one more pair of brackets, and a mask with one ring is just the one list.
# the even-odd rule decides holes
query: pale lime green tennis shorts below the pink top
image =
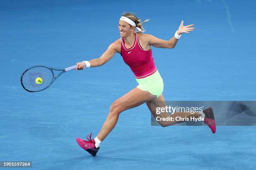
{"label": "pale lime green tennis shorts below the pink top", "polygon": [[158,70],[148,77],[145,78],[136,78],[138,82],[138,88],[144,91],[150,92],[152,95],[156,95],[156,98],[159,97],[164,91],[164,82],[159,74]]}

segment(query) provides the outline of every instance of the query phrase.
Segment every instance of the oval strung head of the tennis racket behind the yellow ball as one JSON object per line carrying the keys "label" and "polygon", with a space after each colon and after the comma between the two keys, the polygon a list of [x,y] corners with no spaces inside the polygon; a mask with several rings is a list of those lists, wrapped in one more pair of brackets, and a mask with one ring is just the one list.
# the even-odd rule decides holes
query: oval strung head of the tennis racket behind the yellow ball
{"label": "oval strung head of the tennis racket behind the yellow ball", "polygon": [[[36,83],[36,78],[40,77],[41,84]],[[40,92],[48,88],[54,81],[54,72],[49,67],[42,65],[34,66],[24,71],[20,77],[22,87],[28,92]]]}

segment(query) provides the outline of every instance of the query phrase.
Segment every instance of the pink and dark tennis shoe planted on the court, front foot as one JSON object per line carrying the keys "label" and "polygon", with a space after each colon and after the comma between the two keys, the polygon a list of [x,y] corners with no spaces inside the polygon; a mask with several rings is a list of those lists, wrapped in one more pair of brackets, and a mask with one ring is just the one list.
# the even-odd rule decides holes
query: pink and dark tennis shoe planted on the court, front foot
{"label": "pink and dark tennis shoe planted on the court, front foot", "polygon": [[88,153],[90,153],[92,156],[96,156],[96,153],[99,151],[99,148],[95,147],[95,141],[92,140],[92,133],[91,135],[87,135],[87,140],[82,140],[81,138],[77,138],[78,145],[86,150]]}

